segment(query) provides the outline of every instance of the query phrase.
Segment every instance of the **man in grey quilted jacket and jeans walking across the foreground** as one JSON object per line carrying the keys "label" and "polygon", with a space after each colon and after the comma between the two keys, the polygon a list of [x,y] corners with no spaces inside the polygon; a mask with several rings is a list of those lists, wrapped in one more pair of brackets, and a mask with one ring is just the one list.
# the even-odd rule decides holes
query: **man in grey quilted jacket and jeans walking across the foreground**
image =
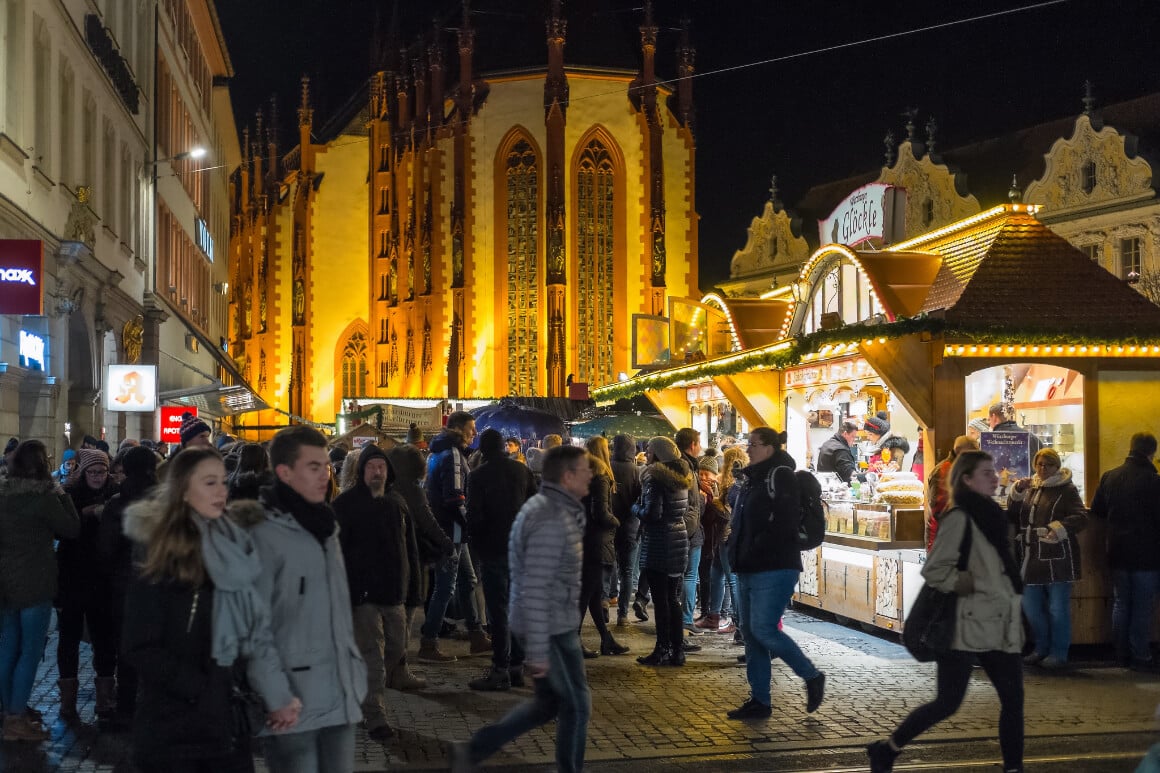
{"label": "man in grey quilted jacket and jeans walking across the foreground", "polygon": [[580,565],[592,468],[575,446],[544,456],[544,482],[516,515],[508,540],[512,634],[521,640],[535,695],[507,716],[451,746],[451,770],[473,771],[528,730],[556,720],[556,766],[583,767],[592,711],[580,651]]}

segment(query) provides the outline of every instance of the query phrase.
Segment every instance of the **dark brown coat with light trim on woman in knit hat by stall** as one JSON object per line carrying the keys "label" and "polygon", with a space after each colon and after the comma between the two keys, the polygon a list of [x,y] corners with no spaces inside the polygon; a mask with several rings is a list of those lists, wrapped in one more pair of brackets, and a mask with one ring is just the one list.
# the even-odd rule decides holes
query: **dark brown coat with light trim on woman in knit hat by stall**
{"label": "dark brown coat with light trim on woman in knit hat by stall", "polygon": [[[1031,478],[1027,491],[1009,494],[1007,512],[1018,533],[1016,557],[1028,585],[1072,583],[1080,578],[1080,542],[1076,534],[1087,527],[1087,508],[1072,483],[1072,471],[1061,469],[1046,481]],[[1037,529],[1049,529],[1050,540]]]}

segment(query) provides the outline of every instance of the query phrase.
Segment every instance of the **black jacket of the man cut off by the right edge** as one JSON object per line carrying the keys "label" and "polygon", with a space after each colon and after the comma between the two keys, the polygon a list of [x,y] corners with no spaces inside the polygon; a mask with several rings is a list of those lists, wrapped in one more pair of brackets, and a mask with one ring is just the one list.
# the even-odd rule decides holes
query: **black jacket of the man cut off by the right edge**
{"label": "black jacket of the man cut off by the right edge", "polygon": [[1108,521],[1108,566],[1160,570],[1160,475],[1148,458],[1130,454],[1104,472],[1090,512]]}

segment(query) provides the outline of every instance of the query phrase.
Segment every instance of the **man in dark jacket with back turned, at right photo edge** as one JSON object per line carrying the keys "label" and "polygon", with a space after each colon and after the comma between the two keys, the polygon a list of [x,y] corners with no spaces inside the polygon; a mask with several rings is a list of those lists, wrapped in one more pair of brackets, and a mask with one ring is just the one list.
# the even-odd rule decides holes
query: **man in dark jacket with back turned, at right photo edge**
{"label": "man in dark jacket with back turned, at right photo edge", "polygon": [[1108,566],[1116,655],[1139,671],[1154,671],[1152,609],[1160,590],[1160,475],[1152,464],[1155,435],[1132,435],[1128,458],[1100,479],[1092,515],[1108,521]]}

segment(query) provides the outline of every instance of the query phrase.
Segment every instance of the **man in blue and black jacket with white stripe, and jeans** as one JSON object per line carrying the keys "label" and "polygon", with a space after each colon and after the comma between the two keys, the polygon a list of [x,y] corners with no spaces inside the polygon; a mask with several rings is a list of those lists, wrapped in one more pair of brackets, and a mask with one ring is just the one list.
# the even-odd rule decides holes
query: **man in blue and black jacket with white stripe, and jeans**
{"label": "man in blue and black jacket with white stripe, and jeans", "polygon": [[438,649],[438,634],[443,627],[451,593],[459,590],[459,606],[471,638],[471,653],[487,652],[492,641],[479,626],[476,609],[476,571],[467,550],[467,456],[464,449],[476,438],[476,418],[466,411],[456,411],[447,418],[447,428],[430,443],[432,454],[427,460],[427,500],[440,528],[451,537],[455,549],[440,561],[435,569],[435,590],[427,604],[423,620],[422,642],[419,659],[433,663],[450,663],[454,655]]}

